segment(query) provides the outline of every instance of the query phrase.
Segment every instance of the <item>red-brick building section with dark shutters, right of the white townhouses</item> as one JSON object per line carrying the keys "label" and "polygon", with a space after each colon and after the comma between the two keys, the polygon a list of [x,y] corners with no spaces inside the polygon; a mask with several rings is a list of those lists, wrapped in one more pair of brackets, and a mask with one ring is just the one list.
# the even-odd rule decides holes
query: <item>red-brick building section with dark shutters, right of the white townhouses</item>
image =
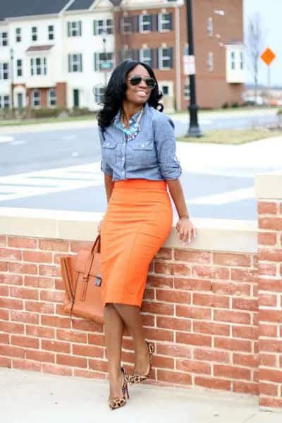
{"label": "red-brick building section with dark shutters, right of the white townhouses", "polygon": [[[194,0],[192,6],[198,104],[213,108],[240,103],[244,82],[242,0]],[[118,61],[145,60],[154,68],[166,105],[186,109],[185,1],[124,0],[116,6],[114,18]]]}

